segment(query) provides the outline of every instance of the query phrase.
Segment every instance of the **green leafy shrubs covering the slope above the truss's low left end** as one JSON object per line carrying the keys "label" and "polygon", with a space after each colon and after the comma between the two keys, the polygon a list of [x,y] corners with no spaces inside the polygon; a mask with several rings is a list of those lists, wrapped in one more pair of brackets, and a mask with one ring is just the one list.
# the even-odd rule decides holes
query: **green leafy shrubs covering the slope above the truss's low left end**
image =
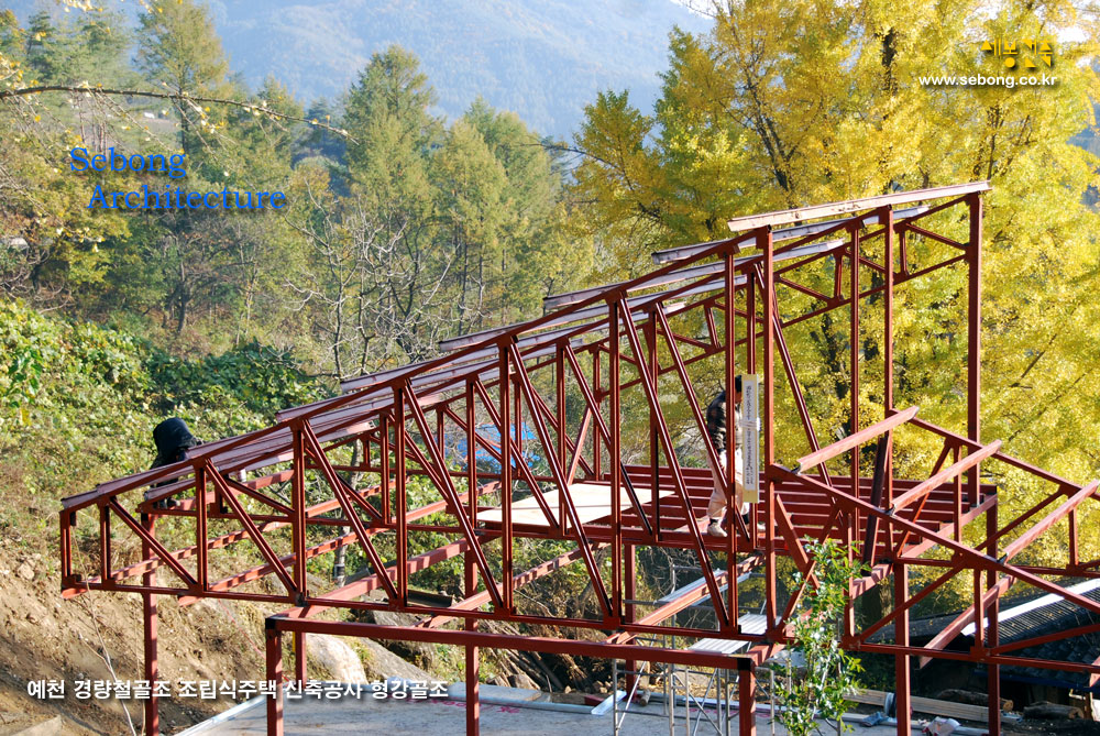
{"label": "green leafy shrubs covering the slope above the truss's low left end", "polygon": [[179,359],[20,301],[0,303],[0,525],[43,552],[56,542],[57,499],[147,468],[164,416],[215,439],[266,427],[276,409],[324,391],[290,355],[257,343]]}

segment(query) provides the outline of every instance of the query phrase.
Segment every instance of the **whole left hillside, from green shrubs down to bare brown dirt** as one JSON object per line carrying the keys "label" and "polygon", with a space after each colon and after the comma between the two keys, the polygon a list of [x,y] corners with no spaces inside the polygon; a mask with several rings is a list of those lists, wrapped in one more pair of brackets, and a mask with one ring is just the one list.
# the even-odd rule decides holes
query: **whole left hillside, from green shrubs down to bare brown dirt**
{"label": "whole left hillside, from green shrubs down to bare brown dirt", "polygon": [[[140,598],[61,600],[58,499],[147,468],[151,430],[166,414],[210,439],[266,426],[276,407],[323,388],[289,355],[256,343],[179,359],[143,336],[18,300],[0,301],[0,728],[57,718],[58,733],[130,733],[121,702],[79,701],[70,689],[82,679],[141,679]],[[78,549],[96,543],[90,531],[77,528]],[[138,551],[120,541],[114,553]],[[248,604],[163,605],[163,675],[255,679],[262,619]],[[32,699],[25,682],[38,679],[65,680],[69,696]],[[187,726],[230,704],[169,700],[163,722]],[[129,710],[140,728],[140,704]]]}

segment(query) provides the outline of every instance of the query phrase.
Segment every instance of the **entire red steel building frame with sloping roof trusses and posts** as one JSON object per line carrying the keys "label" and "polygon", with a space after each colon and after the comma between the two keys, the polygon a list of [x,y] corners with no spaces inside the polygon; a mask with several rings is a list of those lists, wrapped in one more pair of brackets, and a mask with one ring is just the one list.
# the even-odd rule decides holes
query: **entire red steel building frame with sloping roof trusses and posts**
{"label": "entire red steel building frame with sloping roof trusses and posts", "polygon": [[[955,185],[732,220],[728,240],[656,253],[659,267],[647,275],[549,297],[542,317],[446,341],[439,358],[348,381],[341,395],[286,409],[267,429],[200,446],[183,462],[66,498],[63,594],[140,594],[151,680],[157,677],[160,596],[175,596],[180,605],[235,598],[289,606],[267,618],[272,680],[283,678],[286,634],[294,637],[297,680],[305,679],[308,634],[463,646],[469,734],[479,728],[481,647],[736,669],[740,730],[751,734],[754,668],[789,642],[799,600],[807,584],[815,584],[805,540],[834,538],[867,563],[866,575],[851,585],[843,645],[895,658],[898,733],[910,733],[911,659],[946,658],[986,664],[989,729],[997,734],[999,667],[1100,674],[1097,663],[1018,653],[1094,626],[1002,645],[1000,597],[1021,582],[1100,613],[1100,604],[1050,582],[1058,575],[1097,576],[1100,560],[1081,561],[1077,545],[1078,508],[1096,497],[1097,483],[1082,486],[1058,477],[981,437],[981,196],[988,189],[986,183]],[[937,224],[939,231],[933,230]],[[952,234],[956,230],[965,237]],[[967,285],[959,316],[968,347],[960,371],[965,431],[917,418],[917,407],[894,406],[895,289],[952,267],[965,272]],[[827,312],[835,319],[847,312],[850,426],[846,437],[823,446],[784,334]],[[876,315],[877,323],[867,314]],[[861,336],[871,329],[881,330],[883,350],[881,403],[875,404],[859,398],[861,370],[869,362],[861,354]],[[777,362],[796,426],[777,417]],[[718,455],[702,439],[700,406],[710,396],[695,389],[693,375],[697,380],[707,366],[712,387],[730,385],[738,373],[762,374],[760,501],[752,523],[741,523],[730,494],[730,452],[728,466],[719,470],[727,479],[727,518],[735,520],[727,539],[705,535],[710,468],[718,468]],[[671,406],[685,407],[688,419],[670,421]],[[625,447],[624,421],[631,418],[635,426],[648,425],[648,438],[634,431]],[[804,436],[806,453],[789,465],[777,462],[777,431]],[[895,432],[899,441],[925,433],[941,443],[927,477],[895,477]],[[683,439],[692,436],[698,436],[694,442]],[[861,448],[871,449],[873,463],[860,462]],[[457,458],[457,450],[463,457]],[[700,451],[710,468],[682,464]],[[493,459],[493,472],[479,468],[477,453]],[[992,463],[1048,484],[1049,496],[1002,526],[997,487],[980,480],[981,469]],[[376,482],[353,487],[349,474]],[[418,479],[414,495],[419,501],[410,499],[413,479]],[[425,487],[431,488],[428,502]],[[158,503],[168,498],[174,502],[168,507]],[[91,528],[74,546],[78,519]],[[1064,565],[1014,561],[1063,520],[1069,526]],[[139,561],[117,561],[112,527],[140,539]],[[421,549],[417,540],[425,532],[447,542]],[[193,541],[169,550],[166,536]],[[968,541],[976,537],[982,540]],[[534,549],[557,546],[544,561],[517,570],[518,541]],[[570,551],[560,552],[562,541],[571,543]],[[241,556],[229,552],[249,546],[263,562],[234,567]],[[309,563],[341,546],[362,552],[366,573],[322,590],[308,573]],[[639,547],[690,550],[702,584],[646,609],[635,593]],[[604,556],[609,565],[602,563]],[[462,600],[451,605],[410,600],[418,572],[458,557],[465,571]],[[806,582],[801,586],[783,580],[792,565],[780,564],[782,557],[802,573]],[[597,615],[532,613],[517,601],[518,589],[566,565],[584,570]],[[936,576],[914,591],[913,569]],[[732,570],[762,574],[763,634],[741,630],[738,574]],[[912,646],[913,606],[959,575],[972,582],[971,606],[928,645]],[[264,587],[263,578],[274,584]],[[857,627],[856,601],[886,580],[892,580],[892,611]],[[373,591],[385,600],[364,600]],[[676,626],[675,614],[704,597],[715,626]],[[382,626],[317,617],[333,607],[400,611],[420,618],[415,626]],[[559,634],[496,634],[479,628],[484,619],[549,625]],[[977,622],[972,649],[946,650],[971,622]],[[893,630],[893,641],[872,641],[883,628]],[[638,641],[669,633],[746,644],[740,653],[727,655]],[[283,730],[282,707],[282,697],[268,702],[272,734]],[[146,706],[146,733],[157,733],[155,699]]]}

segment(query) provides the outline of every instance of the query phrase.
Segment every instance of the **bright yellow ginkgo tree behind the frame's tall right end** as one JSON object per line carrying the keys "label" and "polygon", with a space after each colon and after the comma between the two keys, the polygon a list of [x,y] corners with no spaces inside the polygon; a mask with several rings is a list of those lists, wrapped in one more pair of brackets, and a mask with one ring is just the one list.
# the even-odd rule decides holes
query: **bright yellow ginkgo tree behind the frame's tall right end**
{"label": "bright yellow ginkgo tree behind the frame's tall right end", "polygon": [[[587,108],[574,142],[584,217],[573,224],[607,256],[594,278],[651,268],[659,248],[724,238],[730,217],[989,179],[982,437],[1076,482],[1100,475],[1100,216],[1089,204],[1100,161],[1079,145],[1100,99],[1098,6],[735,0],[714,17],[705,34],[672,33],[652,111],[612,91]],[[979,76],[1010,81],[969,84]],[[1028,77],[1055,81],[1020,84]],[[937,218],[937,230],[966,240],[957,213]],[[868,252],[880,257],[881,245]],[[783,296],[783,309],[799,308],[799,295]],[[881,325],[881,304],[870,299],[864,315]],[[895,404],[965,431],[965,267],[899,288],[895,315]],[[818,436],[850,431],[847,312],[787,338]],[[862,398],[881,406],[881,328],[861,338]],[[792,428],[780,458],[798,457],[805,438],[792,403],[780,395],[777,406]],[[902,444],[899,472],[926,472],[936,449]],[[1003,491],[1002,521],[1054,490],[990,470],[1004,471],[990,479]],[[1100,556],[1088,537],[1082,559]],[[1027,557],[1065,550],[1063,524]]]}

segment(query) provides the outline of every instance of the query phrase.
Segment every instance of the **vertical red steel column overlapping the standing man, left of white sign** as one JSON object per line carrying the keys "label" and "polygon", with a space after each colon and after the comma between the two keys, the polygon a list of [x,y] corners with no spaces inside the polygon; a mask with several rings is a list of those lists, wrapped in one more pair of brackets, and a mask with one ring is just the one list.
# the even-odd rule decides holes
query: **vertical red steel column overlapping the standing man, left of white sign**
{"label": "vertical red steel column overlapping the standing man, left of white sign", "polygon": [[[726,422],[736,421],[736,380],[737,380],[737,331],[735,321],[737,304],[737,268],[734,262],[734,253],[729,251],[725,254],[725,290],[726,290],[726,318],[723,321],[724,340],[726,343]],[[726,525],[730,534],[726,538],[726,606],[729,608],[729,630],[740,630],[737,616],[737,532],[740,527],[736,524],[736,514],[740,516],[741,507],[737,503],[737,427],[726,427],[726,466],[721,472],[725,473],[726,491]],[[756,526],[749,519],[747,529],[750,541],[756,539]]]}

